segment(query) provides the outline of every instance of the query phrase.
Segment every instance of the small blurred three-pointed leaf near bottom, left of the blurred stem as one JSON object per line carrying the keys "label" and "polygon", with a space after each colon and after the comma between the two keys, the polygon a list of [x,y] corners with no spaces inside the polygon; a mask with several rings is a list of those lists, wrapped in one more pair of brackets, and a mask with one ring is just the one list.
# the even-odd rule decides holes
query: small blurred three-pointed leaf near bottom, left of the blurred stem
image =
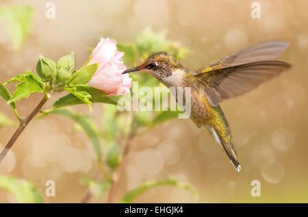
{"label": "small blurred three-pointed leaf near bottom, left of the blurred stem", "polygon": [[81,178],[81,182],[90,188],[92,194],[94,194],[97,199],[101,199],[106,190],[111,186],[110,181],[97,182],[86,175]]}

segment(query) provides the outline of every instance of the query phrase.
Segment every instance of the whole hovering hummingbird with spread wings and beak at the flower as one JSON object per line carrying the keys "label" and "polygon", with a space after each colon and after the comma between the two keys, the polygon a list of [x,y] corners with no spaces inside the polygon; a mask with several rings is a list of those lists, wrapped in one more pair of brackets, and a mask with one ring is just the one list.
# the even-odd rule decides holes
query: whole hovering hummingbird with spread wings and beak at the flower
{"label": "whole hovering hummingbird with spread wings and beak at the flower", "polygon": [[190,118],[197,127],[208,129],[218,145],[227,153],[235,169],[240,172],[241,166],[234,149],[231,129],[220,103],[249,92],[290,68],[291,64],[275,60],[287,46],[288,43],[283,41],[263,42],[196,71],[180,64],[170,53],[160,51],[123,74],[146,71],[167,88],[182,87],[185,90],[189,87]]}

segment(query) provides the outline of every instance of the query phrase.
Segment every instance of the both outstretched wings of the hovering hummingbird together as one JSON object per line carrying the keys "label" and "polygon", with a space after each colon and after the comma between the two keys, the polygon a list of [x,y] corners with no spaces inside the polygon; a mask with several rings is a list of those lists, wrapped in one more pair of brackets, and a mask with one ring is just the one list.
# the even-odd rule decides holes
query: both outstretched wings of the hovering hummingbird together
{"label": "both outstretched wings of the hovering hummingbird together", "polygon": [[[285,42],[265,42],[223,58],[196,71],[196,79],[212,106],[238,97],[268,81],[291,65],[272,60],[287,47]],[[249,62],[251,61],[251,62]]]}

